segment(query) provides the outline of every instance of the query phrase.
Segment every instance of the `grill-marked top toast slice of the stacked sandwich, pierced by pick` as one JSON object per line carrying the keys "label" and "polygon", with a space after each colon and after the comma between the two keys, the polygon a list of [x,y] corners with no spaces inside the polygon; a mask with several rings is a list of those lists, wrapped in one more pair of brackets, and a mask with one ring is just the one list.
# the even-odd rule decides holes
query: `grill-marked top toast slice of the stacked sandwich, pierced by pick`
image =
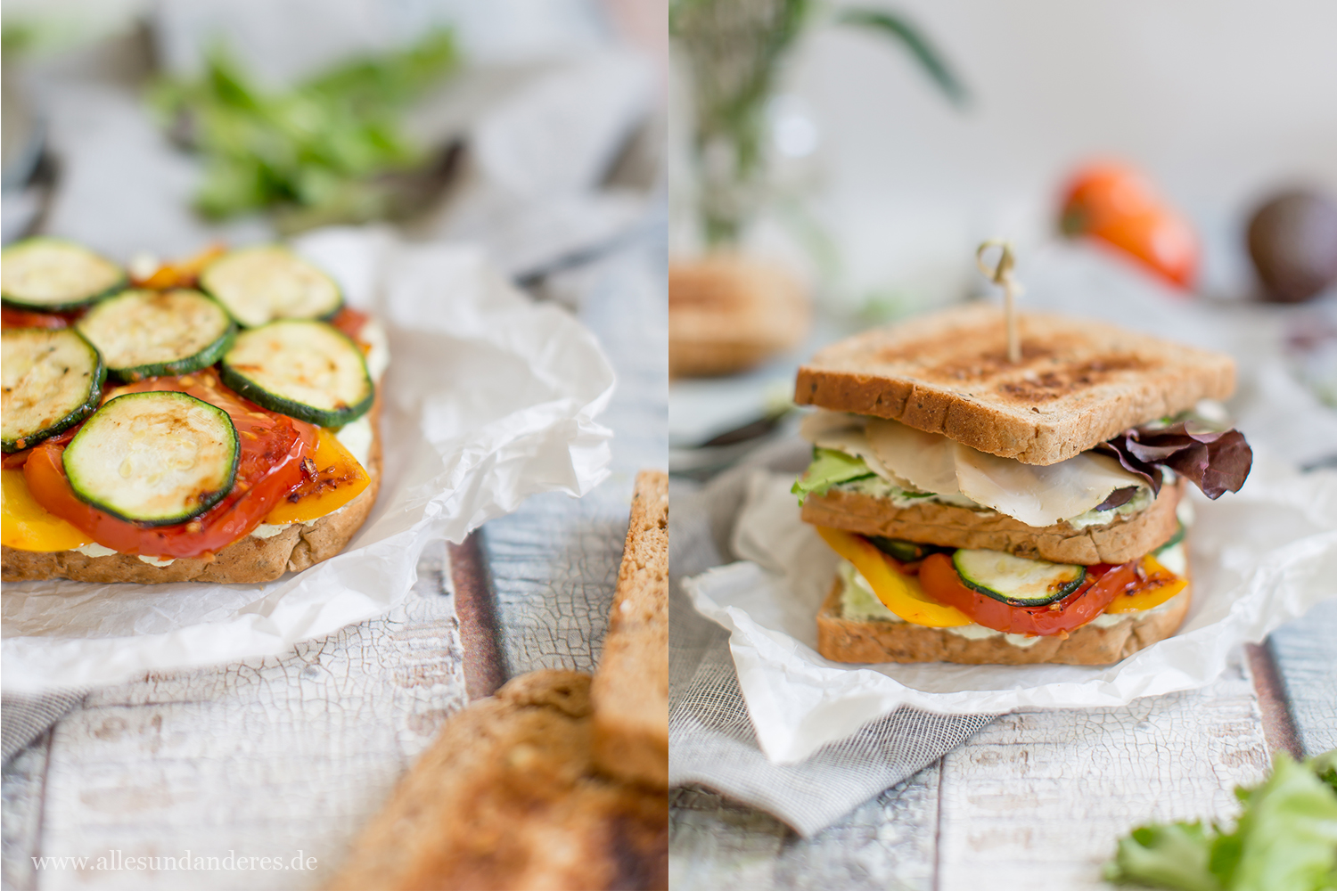
{"label": "grill-marked top toast slice of the stacked sandwich, pierced by pick", "polygon": [[1062,315],[1023,313],[1017,327],[1017,365],[991,305],[866,331],[798,369],[794,401],[1048,465],[1235,387],[1234,359],[1222,353]]}

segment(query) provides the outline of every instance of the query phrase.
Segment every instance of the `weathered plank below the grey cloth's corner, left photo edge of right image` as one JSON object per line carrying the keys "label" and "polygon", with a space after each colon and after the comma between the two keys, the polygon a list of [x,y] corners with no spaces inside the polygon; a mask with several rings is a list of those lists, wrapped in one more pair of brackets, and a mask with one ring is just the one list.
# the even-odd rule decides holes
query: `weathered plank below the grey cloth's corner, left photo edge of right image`
{"label": "weathered plank below the grey cloth's corner, left photo edge of right image", "polygon": [[668,879],[681,891],[933,886],[939,765],[802,839],[771,816],[705,789],[670,800]]}

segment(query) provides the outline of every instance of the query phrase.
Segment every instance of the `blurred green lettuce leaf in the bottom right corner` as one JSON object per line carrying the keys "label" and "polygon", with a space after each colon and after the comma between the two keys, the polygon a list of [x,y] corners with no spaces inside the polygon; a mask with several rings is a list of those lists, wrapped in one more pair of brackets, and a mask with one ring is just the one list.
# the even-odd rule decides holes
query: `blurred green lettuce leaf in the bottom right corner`
{"label": "blurred green lettuce leaf in the bottom right corner", "polygon": [[1235,789],[1231,832],[1144,826],[1120,839],[1104,878],[1178,891],[1337,891],[1337,752],[1297,764],[1277,755],[1262,785]]}

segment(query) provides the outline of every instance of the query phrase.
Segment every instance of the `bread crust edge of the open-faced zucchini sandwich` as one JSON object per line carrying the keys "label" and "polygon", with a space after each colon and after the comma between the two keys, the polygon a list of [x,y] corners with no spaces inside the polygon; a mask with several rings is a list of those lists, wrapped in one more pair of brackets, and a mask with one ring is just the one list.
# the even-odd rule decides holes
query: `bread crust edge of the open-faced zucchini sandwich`
{"label": "bread crust edge of the open-faced zucchini sandwich", "polygon": [[376,505],[381,490],[381,397],[372,406],[372,449],[366,466],[370,485],[334,513],[312,524],[294,522],[290,528],[269,538],[246,536],[227,545],[211,560],[180,557],[166,566],[146,564],[135,554],[108,554],[90,557],[78,550],[40,553],[3,548],[4,581],[43,581],[71,578],[74,581],[156,585],[172,581],[202,581],[217,584],[257,584],[273,581],[286,572],[301,572],[322,560],[329,560],[352,541]]}

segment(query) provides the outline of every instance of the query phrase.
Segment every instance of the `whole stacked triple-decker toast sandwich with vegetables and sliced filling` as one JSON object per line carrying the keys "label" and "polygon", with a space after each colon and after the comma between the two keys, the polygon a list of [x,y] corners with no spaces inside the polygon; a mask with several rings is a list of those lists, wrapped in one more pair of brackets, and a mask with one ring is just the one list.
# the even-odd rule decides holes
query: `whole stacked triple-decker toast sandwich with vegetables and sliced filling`
{"label": "whole stacked triple-decker toast sandwich with vegetables and sliced filling", "polygon": [[845,663],[1108,664],[1189,609],[1189,482],[1235,492],[1241,433],[1193,413],[1227,355],[983,305],[868,331],[798,371],[802,518],[844,558],[817,616]]}

